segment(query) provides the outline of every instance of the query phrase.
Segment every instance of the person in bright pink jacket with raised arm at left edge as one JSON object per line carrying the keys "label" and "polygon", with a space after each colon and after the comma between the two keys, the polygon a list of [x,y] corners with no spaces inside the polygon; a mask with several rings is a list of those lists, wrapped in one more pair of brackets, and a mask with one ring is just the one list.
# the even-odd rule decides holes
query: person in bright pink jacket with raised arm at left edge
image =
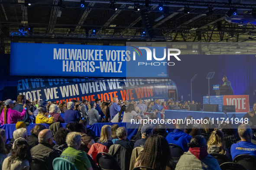
{"label": "person in bright pink jacket with raised arm at left edge", "polygon": [[8,99],[4,102],[4,109],[0,116],[0,124],[17,123],[18,119],[23,119],[26,114],[26,104],[24,104],[22,112],[13,110],[13,101]]}

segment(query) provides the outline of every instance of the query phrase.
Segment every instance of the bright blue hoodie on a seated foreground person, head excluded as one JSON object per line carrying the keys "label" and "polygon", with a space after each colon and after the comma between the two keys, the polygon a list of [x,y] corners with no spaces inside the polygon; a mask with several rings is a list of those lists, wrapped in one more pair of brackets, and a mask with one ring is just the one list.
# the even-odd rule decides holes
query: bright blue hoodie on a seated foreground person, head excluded
{"label": "bright blue hoodie on a seated foreground person, head excluded", "polygon": [[185,152],[187,152],[189,149],[188,143],[190,142],[191,138],[191,135],[188,135],[180,129],[175,129],[173,132],[169,133],[165,139],[168,143],[178,145]]}

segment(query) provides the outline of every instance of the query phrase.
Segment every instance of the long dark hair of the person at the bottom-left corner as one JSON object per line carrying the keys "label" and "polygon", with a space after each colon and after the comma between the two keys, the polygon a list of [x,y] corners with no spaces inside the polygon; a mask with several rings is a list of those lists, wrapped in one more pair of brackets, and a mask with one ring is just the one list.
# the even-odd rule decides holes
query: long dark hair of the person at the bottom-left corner
{"label": "long dark hair of the person at the bottom-left corner", "polygon": [[30,147],[28,142],[24,138],[18,138],[13,142],[13,148],[11,151],[12,155],[8,160],[7,168],[10,169],[11,164],[15,163],[16,160],[31,160]]}

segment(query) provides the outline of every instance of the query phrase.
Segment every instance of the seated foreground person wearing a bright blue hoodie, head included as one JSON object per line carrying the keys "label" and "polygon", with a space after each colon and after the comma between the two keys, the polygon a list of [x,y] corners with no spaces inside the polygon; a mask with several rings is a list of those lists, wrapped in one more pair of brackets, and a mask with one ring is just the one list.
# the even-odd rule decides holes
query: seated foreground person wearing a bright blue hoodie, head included
{"label": "seated foreground person wearing a bright blue hoodie, head included", "polygon": [[185,121],[176,122],[176,129],[166,136],[168,143],[172,143],[181,147],[185,152],[188,151],[188,143],[191,140],[191,135],[185,133]]}

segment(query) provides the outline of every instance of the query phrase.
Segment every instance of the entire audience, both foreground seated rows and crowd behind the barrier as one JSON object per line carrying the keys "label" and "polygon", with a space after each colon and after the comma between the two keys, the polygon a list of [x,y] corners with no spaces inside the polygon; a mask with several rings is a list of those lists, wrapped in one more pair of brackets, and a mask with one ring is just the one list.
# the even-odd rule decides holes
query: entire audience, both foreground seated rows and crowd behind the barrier
{"label": "entire audience, both foreground seated rows and crowd behind the barrier", "polygon": [[[172,104],[170,102],[169,105]],[[159,100],[143,103],[139,99],[137,104],[119,101],[118,98],[113,98],[113,102],[101,102],[97,98],[90,102],[60,104],[53,101],[31,102],[24,95],[19,95],[16,104],[10,99],[3,104],[1,125],[16,124],[13,139],[8,144],[5,130],[0,129],[0,167],[3,170],[29,170],[35,157],[48,170],[53,170],[52,162],[57,157],[70,161],[78,170],[96,170],[95,152],[100,151],[113,155],[122,170],[137,166],[153,170],[220,170],[211,153],[222,154],[229,161],[240,154],[256,156],[256,137],[249,124],[241,124],[237,130],[228,123],[222,126],[203,123],[199,127],[177,121],[174,130],[141,124],[131,139],[128,139],[127,129],[117,124],[102,126],[100,136],[87,128],[94,123],[129,122],[133,117],[142,119],[145,116],[142,113],[163,112],[168,107],[166,101],[161,105]],[[255,114],[256,103],[246,116],[253,120]],[[28,136],[26,127],[32,122],[67,124],[54,129],[36,124]],[[170,143],[185,152],[178,161],[172,159]]]}

